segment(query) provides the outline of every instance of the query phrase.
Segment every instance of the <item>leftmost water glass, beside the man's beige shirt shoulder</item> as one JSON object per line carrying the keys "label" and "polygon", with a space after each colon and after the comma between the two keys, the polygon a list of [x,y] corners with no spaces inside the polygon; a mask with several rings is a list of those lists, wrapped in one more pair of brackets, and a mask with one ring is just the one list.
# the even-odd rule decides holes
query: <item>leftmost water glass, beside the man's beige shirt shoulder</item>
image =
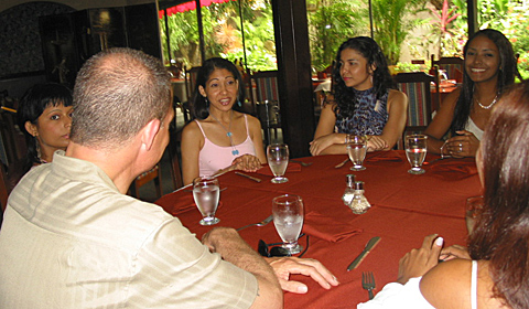
{"label": "leftmost water glass, beside the man's beige shirt shoulder", "polygon": [[198,177],[193,180],[193,198],[203,216],[199,222],[202,225],[214,225],[220,222],[218,217],[215,217],[219,196],[220,191],[216,178]]}

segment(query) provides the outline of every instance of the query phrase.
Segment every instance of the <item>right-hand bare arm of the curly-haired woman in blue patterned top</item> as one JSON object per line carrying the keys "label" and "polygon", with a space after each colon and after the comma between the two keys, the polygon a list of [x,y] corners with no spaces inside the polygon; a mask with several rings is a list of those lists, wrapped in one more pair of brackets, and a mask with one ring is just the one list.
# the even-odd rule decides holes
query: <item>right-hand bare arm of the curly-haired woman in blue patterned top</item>
{"label": "right-hand bare arm of the curly-haired woman in blue patterned top", "polygon": [[[406,94],[391,89],[388,96],[388,122],[384,127],[382,135],[378,138],[386,141],[386,145],[373,143],[371,150],[390,150],[397,143],[402,136],[406,127],[406,118],[408,111],[408,97]],[[377,137],[371,137],[373,141],[377,140]]]}

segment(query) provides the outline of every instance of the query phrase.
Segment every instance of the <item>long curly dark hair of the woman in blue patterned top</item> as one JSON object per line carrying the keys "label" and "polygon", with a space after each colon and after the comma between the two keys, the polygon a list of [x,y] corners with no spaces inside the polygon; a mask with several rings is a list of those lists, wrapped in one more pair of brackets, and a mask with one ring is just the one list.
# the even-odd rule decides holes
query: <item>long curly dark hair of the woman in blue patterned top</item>
{"label": "long curly dark hair of the woman in blue patterned top", "polygon": [[[339,70],[342,68],[342,51],[345,49],[352,49],[360,53],[367,60],[367,67],[375,66],[375,72],[373,73],[373,86],[375,87],[375,93],[377,98],[382,97],[389,88],[396,88],[395,81],[389,74],[388,63],[386,62],[386,56],[371,38],[367,36],[356,36],[352,38],[342,45],[339,45],[338,52],[336,53],[336,61],[333,67],[333,83],[334,83],[334,100],[336,102],[336,117],[347,118],[353,116],[355,111],[355,102],[356,96],[352,88],[345,85]],[[339,111],[339,115],[338,115]]]}

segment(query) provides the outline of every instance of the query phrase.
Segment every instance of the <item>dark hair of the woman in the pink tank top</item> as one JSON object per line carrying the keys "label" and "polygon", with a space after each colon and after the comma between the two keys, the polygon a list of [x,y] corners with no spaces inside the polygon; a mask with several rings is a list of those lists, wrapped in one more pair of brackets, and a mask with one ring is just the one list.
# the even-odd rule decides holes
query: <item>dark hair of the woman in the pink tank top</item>
{"label": "dark hair of the woman in the pink tank top", "polygon": [[[235,64],[233,64],[229,60],[225,60],[222,57],[208,58],[202,64],[202,67],[196,75],[196,86],[193,94],[193,106],[191,107],[193,116],[201,120],[206,119],[209,116],[209,100],[205,99],[205,97],[201,95],[198,86],[203,86],[205,89],[207,79],[209,79],[212,73],[217,68],[225,68],[231,74],[234,74],[234,77],[239,84],[237,99],[240,103],[245,102],[245,82],[242,81],[242,76],[240,75],[240,72],[237,70]],[[242,111],[242,108],[241,106],[239,106],[238,103],[235,103],[233,109],[237,111]]]}

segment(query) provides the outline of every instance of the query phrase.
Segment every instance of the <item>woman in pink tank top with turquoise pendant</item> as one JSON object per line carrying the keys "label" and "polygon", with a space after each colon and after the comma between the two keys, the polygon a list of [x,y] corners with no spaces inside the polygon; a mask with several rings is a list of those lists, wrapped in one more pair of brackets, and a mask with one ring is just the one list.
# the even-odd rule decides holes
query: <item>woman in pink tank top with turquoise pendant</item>
{"label": "woman in pink tank top with turquoise pendant", "polygon": [[205,61],[196,76],[192,113],[182,132],[184,184],[229,170],[255,172],[267,162],[261,125],[241,113],[242,77],[229,61]]}

